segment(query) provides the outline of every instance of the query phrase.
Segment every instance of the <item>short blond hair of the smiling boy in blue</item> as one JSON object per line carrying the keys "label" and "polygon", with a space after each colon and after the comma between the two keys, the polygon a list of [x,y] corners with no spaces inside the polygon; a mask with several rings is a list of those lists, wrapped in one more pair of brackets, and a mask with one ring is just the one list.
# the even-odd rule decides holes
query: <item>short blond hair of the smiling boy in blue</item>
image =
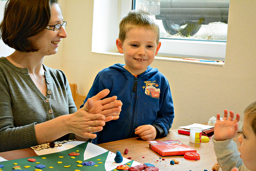
{"label": "short blond hair of the smiling boy in blue", "polygon": [[122,19],[119,24],[119,36],[118,39],[124,41],[126,33],[134,27],[144,27],[156,32],[156,42],[159,42],[159,27],[156,24],[156,20],[147,12],[143,10],[131,10],[126,17]]}

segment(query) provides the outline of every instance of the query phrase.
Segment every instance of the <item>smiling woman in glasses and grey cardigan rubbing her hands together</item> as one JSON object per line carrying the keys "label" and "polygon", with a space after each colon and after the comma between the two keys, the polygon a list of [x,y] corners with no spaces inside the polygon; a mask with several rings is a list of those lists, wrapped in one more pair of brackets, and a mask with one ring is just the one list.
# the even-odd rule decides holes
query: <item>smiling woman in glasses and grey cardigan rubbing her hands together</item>
{"label": "smiling woman in glasses and grey cardigan rubbing her hands together", "polygon": [[[109,90],[76,111],[65,74],[43,64],[67,37],[58,0],[9,0],[0,36],[14,53],[0,58],[0,152],[56,139],[88,140],[105,122],[119,117]],[[69,114],[69,115],[68,115]]]}

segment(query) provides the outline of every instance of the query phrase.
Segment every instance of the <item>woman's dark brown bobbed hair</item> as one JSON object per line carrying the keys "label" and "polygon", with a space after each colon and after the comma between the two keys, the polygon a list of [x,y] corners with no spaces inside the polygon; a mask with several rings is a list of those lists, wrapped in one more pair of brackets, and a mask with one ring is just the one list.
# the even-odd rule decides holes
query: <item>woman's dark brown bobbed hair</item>
{"label": "woman's dark brown bobbed hair", "polygon": [[0,38],[17,51],[38,51],[28,39],[48,25],[54,3],[58,4],[58,0],[8,0],[0,24]]}

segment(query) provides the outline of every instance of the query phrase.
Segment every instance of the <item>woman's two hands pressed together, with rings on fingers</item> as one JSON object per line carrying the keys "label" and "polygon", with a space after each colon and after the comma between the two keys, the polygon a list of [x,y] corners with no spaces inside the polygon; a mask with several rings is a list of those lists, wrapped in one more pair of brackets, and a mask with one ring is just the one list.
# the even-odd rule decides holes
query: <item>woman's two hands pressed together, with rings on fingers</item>
{"label": "woman's two hands pressed together, with rings on fingers", "polygon": [[76,134],[77,140],[96,138],[96,134],[93,132],[101,131],[105,122],[119,118],[123,103],[116,100],[116,96],[100,100],[108,93],[108,89],[100,91],[97,95],[89,98],[84,107],[70,115],[70,130]]}

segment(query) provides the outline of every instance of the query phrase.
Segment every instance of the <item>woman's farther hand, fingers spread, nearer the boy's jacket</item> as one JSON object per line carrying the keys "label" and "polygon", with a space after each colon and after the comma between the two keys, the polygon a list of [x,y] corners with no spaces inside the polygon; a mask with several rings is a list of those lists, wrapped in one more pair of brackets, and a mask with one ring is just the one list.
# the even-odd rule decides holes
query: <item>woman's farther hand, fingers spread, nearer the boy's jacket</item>
{"label": "woman's farther hand, fingers spread, nearer the boy's jacket", "polygon": [[106,117],[105,122],[112,119],[118,119],[123,103],[120,100],[116,100],[116,96],[100,100],[107,96],[108,93],[109,90],[104,89],[92,98],[88,98],[87,102],[84,104],[84,107],[81,109],[92,114],[103,114]]}

